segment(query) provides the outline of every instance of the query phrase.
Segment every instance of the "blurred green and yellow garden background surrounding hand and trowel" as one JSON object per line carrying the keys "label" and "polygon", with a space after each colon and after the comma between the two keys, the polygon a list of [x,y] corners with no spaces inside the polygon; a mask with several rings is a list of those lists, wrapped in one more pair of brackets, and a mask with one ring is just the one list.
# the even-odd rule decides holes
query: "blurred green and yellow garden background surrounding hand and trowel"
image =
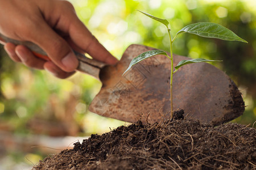
{"label": "blurred green and yellow garden background surrounding hand and trowel", "polygon": [[[137,9],[168,19],[173,35],[185,25],[196,22],[218,23],[237,33],[249,44],[183,34],[174,43],[174,53],[191,58],[223,60],[216,66],[236,82],[247,106],[243,116],[233,122],[253,126],[256,120],[255,0],[70,2],[82,22],[117,58],[121,58],[130,44],[168,50],[165,26],[137,12]],[[68,79],[57,79],[46,71],[14,63],[2,46],[0,50],[0,140],[7,145],[0,148],[0,164],[1,159],[5,164],[10,162],[4,168],[12,169],[14,163],[22,163],[25,167],[28,164],[29,167],[47,154],[59,151],[44,151],[31,146],[27,146],[30,149],[26,150],[24,144],[20,148],[10,145],[20,138],[24,142],[29,137],[39,135],[86,136],[101,134],[109,131],[109,128],[125,124],[88,112],[88,104],[101,87],[100,82],[92,77],[76,73]],[[4,140],[6,133],[10,137],[7,142]],[[47,147],[47,143],[44,146]]]}

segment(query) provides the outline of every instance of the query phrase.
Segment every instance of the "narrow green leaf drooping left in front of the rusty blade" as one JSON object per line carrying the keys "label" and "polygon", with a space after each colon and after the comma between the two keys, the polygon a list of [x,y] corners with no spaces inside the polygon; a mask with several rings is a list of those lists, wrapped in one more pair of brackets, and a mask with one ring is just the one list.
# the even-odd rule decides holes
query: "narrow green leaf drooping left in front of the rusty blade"
{"label": "narrow green leaf drooping left in front of the rusty blade", "polygon": [[[131,60],[128,69],[125,70],[125,73],[126,73],[128,70],[130,70],[131,67],[134,66],[135,64],[137,64],[138,62],[141,62],[141,61],[144,60],[144,59],[147,59],[147,58],[149,58],[149,57],[156,56],[156,55],[159,55],[159,54],[168,56],[167,53],[164,52],[163,50],[151,50],[151,51],[148,51],[148,52],[144,52],[144,53],[142,53],[142,54],[139,54],[139,56],[137,56],[137,57],[135,57],[134,59]],[[125,73],[123,73],[123,74],[125,74]]]}

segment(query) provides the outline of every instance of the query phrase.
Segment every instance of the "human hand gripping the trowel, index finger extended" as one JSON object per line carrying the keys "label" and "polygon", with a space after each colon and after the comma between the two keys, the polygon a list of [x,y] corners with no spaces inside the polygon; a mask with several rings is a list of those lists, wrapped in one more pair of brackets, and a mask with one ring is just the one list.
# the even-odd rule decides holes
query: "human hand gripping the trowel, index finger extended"
{"label": "human hand gripping the trowel, index finger extended", "polygon": [[98,61],[117,62],[77,18],[68,1],[0,0],[0,32],[11,39],[34,42],[51,59],[45,61],[26,46],[7,43],[5,50],[13,61],[45,69],[58,78],[72,75],[79,64],[72,49]]}

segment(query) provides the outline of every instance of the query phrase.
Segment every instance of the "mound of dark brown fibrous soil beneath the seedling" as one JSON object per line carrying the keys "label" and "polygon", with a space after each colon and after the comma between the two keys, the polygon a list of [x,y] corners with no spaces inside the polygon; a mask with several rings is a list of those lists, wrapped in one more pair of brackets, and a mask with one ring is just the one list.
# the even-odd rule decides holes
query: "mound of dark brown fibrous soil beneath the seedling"
{"label": "mound of dark brown fibrous soil beneath the seedling", "polygon": [[33,169],[256,169],[256,130],[233,123],[138,121],[74,145]]}

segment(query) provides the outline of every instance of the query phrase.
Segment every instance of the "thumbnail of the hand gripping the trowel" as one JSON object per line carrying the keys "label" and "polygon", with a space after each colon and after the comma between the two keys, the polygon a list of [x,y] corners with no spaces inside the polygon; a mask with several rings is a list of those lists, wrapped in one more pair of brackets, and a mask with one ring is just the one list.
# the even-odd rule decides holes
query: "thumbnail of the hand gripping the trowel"
{"label": "thumbnail of the hand gripping the trowel", "polygon": [[66,67],[65,69],[67,69],[66,71],[74,71],[77,66],[78,66],[78,61],[77,61],[77,58],[75,56],[74,53],[68,53],[67,56],[65,56],[61,62],[63,63],[63,65]]}

